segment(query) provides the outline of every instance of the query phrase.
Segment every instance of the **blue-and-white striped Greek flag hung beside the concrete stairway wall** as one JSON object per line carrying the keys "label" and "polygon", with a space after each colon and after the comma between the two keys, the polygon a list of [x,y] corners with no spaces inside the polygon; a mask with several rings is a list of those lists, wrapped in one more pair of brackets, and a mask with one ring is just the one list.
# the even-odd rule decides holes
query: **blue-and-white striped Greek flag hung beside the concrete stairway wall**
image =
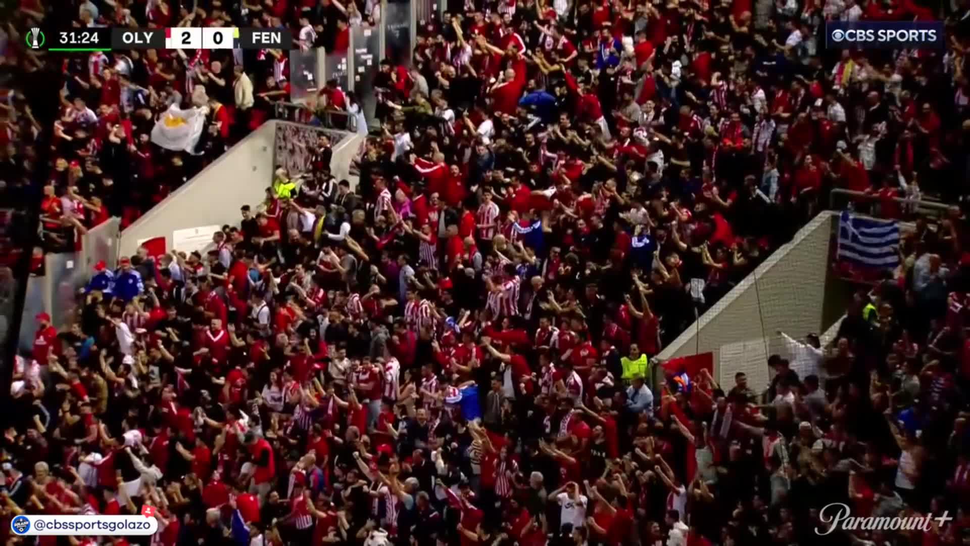
{"label": "blue-and-white striped Greek flag hung beside the concrete stairway wall", "polygon": [[838,259],[889,269],[899,265],[899,224],[843,212],[839,218]]}

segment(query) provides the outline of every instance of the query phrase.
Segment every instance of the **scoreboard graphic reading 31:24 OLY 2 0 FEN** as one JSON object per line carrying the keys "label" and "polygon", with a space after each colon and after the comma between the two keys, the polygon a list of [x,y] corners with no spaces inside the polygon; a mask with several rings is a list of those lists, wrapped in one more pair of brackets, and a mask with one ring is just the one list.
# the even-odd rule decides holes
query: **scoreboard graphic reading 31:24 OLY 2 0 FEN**
{"label": "scoreboard graphic reading 31:24 OLY 2 0 FEN", "polygon": [[27,32],[26,45],[35,51],[112,50],[289,50],[287,29],[237,27],[74,28]]}

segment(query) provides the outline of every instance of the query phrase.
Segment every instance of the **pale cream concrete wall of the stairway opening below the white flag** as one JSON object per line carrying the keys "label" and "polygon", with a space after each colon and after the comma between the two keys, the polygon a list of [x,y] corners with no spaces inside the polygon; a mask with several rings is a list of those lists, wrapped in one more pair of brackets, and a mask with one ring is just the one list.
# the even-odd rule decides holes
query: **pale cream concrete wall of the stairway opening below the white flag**
{"label": "pale cream concrete wall of the stairway opening below the white flag", "polygon": [[[263,123],[128,226],[121,232],[119,255],[131,256],[142,241],[160,236],[165,237],[166,248],[172,249],[173,231],[178,229],[239,223],[240,207],[261,203],[273,181],[276,128],[286,123],[276,120]],[[358,135],[341,133],[340,136],[334,148],[333,171],[337,176],[345,175],[350,158],[361,142]]]}

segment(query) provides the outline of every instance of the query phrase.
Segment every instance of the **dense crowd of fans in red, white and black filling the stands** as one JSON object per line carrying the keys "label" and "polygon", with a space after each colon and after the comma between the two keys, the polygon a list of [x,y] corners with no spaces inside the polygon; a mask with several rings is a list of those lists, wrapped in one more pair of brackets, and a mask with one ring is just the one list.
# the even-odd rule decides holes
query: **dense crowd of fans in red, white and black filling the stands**
{"label": "dense crowd of fans in red, white and black filling the stands", "polygon": [[[65,3],[25,0],[5,29],[5,59],[61,75],[49,249],[133,222],[272,116],[287,57],[60,58],[24,49],[24,29],[287,25],[339,50],[380,16],[349,0]],[[99,263],[70,327],[37,316],[0,440],[0,533],[26,541],[21,513],[147,504],[165,546],[965,543],[962,214],[917,221],[831,347],[786,337],[763,395],[653,357],[831,188],[889,218],[912,214],[891,196],[960,202],[968,13],[449,3],[409,68],[381,63],[353,187],[309,143],[313,169],[277,170],[207,252]],[[826,20],[944,17],[945,51],[824,47]],[[150,142],[172,104],[209,108],[192,153]],[[361,113],[332,84],[317,107]],[[832,502],[954,520],[820,536]],[[58,540],[96,543],[39,542]]]}

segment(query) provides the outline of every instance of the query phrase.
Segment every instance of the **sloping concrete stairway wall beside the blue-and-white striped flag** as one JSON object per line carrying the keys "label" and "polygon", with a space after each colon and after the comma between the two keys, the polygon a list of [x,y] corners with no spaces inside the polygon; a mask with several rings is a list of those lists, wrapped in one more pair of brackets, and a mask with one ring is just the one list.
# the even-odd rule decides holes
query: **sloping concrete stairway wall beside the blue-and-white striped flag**
{"label": "sloping concrete stairway wall beside the blue-and-white striped flag", "polygon": [[838,319],[824,313],[826,285],[839,283],[830,278],[828,266],[837,220],[836,213],[826,211],[802,227],[792,242],[769,256],[659,357],[713,352],[715,377],[722,386],[732,386],[734,373],[744,371],[751,388],[760,391],[769,380],[767,356],[783,350],[777,330],[801,338],[809,332],[821,334]]}

